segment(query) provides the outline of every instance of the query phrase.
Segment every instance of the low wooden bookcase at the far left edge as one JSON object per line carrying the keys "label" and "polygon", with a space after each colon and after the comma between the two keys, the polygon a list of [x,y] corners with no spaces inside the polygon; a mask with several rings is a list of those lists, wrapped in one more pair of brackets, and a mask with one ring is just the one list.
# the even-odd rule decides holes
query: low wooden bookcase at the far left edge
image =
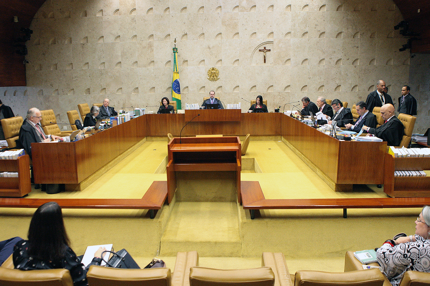
{"label": "low wooden bookcase at the far left edge", "polygon": [[30,157],[28,155],[20,156],[17,159],[1,159],[0,172],[18,173],[18,177],[0,177],[0,196],[22,197],[31,192]]}

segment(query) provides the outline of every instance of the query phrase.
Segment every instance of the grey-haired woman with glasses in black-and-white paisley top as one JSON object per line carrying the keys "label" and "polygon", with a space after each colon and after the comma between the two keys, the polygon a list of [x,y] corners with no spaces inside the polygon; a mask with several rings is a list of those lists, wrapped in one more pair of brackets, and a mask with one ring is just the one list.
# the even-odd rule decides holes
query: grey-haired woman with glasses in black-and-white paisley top
{"label": "grey-haired woman with glasses in black-and-white paisley top", "polygon": [[415,235],[396,235],[376,251],[378,263],[393,286],[399,285],[408,270],[430,272],[429,206],[424,206],[415,224]]}

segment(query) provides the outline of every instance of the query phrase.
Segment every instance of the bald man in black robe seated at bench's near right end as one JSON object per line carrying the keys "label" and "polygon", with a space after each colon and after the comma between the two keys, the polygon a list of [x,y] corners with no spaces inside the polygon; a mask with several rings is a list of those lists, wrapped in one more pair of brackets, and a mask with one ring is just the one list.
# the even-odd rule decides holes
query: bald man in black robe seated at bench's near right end
{"label": "bald man in black robe seated at bench's near right end", "polygon": [[362,129],[369,132],[369,134],[374,134],[376,137],[387,141],[388,146],[400,146],[405,127],[402,121],[394,115],[394,106],[392,104],[382,105],[381,116],[385,120],[384,124],[377,128],[363,125]]}

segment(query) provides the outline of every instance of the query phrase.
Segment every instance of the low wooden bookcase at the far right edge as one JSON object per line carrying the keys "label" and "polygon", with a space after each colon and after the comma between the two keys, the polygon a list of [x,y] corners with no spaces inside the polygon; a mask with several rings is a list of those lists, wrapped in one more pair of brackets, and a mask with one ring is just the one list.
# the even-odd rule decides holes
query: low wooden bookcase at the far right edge
{"label": "low wooden bookcase at the far right edge", "polygon": [[[377,162],[378,163],[378,162]],[[385,154],[384,193],[390,197],[429,197],[430,176],[396,176],[395,171],[430,170],[430,157],[394,157]],[[427,172],[428,174],[428,172]]]}

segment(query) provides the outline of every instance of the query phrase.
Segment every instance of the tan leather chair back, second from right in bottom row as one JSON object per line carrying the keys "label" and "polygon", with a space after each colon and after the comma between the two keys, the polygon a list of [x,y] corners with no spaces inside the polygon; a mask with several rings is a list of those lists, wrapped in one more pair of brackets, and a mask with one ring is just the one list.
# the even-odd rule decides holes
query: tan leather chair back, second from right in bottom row
{"label": "tan leather chair back, second from right in bottom row", "polygon": [[382,286],[384,275],[379,269],[330,273],[322,271],[297,271],[295,286]]}

